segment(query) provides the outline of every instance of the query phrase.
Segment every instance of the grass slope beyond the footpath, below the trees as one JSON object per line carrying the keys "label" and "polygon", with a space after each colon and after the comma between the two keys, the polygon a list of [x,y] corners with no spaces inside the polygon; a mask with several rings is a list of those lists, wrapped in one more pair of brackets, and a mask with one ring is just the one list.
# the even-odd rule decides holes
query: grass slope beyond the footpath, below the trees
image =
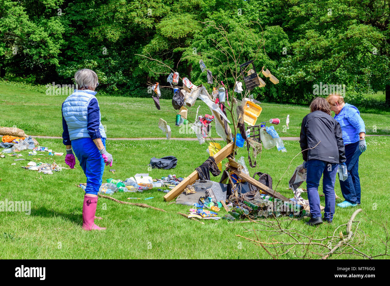
{"label": "grass slope beyond the footpath, below the trees", "polygon": [[[61,104],[67,95],[46,95],[28,88],[21,88],[11,83],[0,83],[0,126],[17,126],[28,135],[58,136],[62,135]],[[161,110],[157,110],[152,98],[128,98],[101,96],[97,93],[101,109],[101,121],[106,126],[109,138],[142,138],[165,137],[158,128],[159,118],[168,122],[172,137],[196,138],[194,134],[180,133],[175,126],[175,110],[171,100],[160,99]],[[188,119],[193,122],[197,107],[199,114],[210,114],[207,105],[201,100],[188,111]],[[269,121],[270,118],[291,116],[286,129],[285,119],[281,119],[275,129],[281,137],[298,137],[302,118],[309,112],[308,107],[290,104],[261,104],[262,113],[257,123]],[[367,134],[390,134],[390,112],[383,114],[362,113]],[[211,136],[217,136],[214,128]]]}

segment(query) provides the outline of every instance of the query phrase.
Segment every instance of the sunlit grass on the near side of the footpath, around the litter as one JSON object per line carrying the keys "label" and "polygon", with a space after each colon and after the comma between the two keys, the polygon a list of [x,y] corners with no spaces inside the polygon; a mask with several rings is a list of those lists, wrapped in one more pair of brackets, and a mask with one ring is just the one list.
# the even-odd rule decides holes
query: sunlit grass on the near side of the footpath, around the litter
{"label": "sunlit grass on the near side of the footpath, around the litter", "polygon": [[[22,97],[23,95],[19,95]],[[32,100],[33,97],[24,95]],[[2,100],[4,97],[2,96]],[[9,100],[9,99],[7,99]],[[52,99],[50,99],[52,100]],[[62,100],[62,99],[61,99]],[[61,100],[58,100],[60,102]],[[131,99],[117,98],[119,102]],[[102,100],[105,102],[105,100]],[[9,101],[7,101],[9,102]],[[44,104],[44,100],[36,100]],[[142,100],[138,100],[142,102]],[[28,101],[25,101],[27,104]],[[1,108],[4,108],[3,104]],[[22,105],[23,106],[23,105]],[[37,105],[39,106],[39,105]],[[44,105],[46,111],[51,105]],[[113,105],[107,105],[112,106]],[[35,109],[34,105],[23,106]],[[52,109],[52,107],[51,107]],[[15,108],[16,110],[16,108]],[[114,111],[115,109],[113,109]],[[129,110],[129,109],[128,109]],[[53,112],[53,110],[51,110]],[[145,112],[142,112],[145,113]],[[294,116],[295,112],[289,111]],[[20,115],[24,112],[20,111]],[[31,126],[49,126],[46,119],[40,115],[49,116],[44,111],[31,112],[34,117],[30,119]],[[51,113],[53,114],[53,113]],[[27,116],[27,115],[26,115]],[[7,119],[11,120],[11,119]],[[19,118],[17,120],[20,120]],[[27,118],[25,119],[27,122]],[[11,121],[12,122],[12,121]],[[36,123],[34,123],[36,122]],[[58,123],[54,124],[50,132],[58,130]],[[35,125],[36,124],[36,125]],[[123,123],[125,126],[125,123]],[[44,132],[44,130],[42,130]],[[49,132],[49,131],[48,131]],[[43,135],[54,135],[54,133]],[[111,134],[110,136],[113,136]],[[53,151],[63,152],[61,140],[39,140],[41,146],[47,146]],[[276,148],[264,150],[261,160],[256,168],[250,169],[251,174],[257,171],[267,172],[273,178],[274,188],[287,169],[291,159],[300,151],[296,141],[285,141],[287,153],[278,153]],[[388,162],[390,153],[389,137],[367,138],[367,151],[360,156],[360,179],[362,184],[362,209],[365,214],[380,222],[388,219],[389,200],[388,183],[390,170]],[[110,177],[126,179],[136,173],[149,173],[158,178],[168,174],[185,177],[195,167],[208,158],[206,144],[198,142],[174,140],[150,141],[107,141],[107,150],[113,154],[118,163],[112,168],[115,175],[106,168],[103,181]],[[105,198],[99,198],[97,215],[103,217],[100,226],[105,226],[103,232],[85,232],[82,230],[82,202],[83,191],[75,185],[85,182],[85,176],[78,164],[76,168],[55,172],[53,175],[44,175],[36,171],[25,170],[20,166],[27,165],[31,157],[28,151],[22,151],[27,161],[14,161],[15,157],[5,155],[0,160],[0,200],[5,201],[31,201],[31,214],[21,212],[0,212],[0,258],[270,258],[261,247],[237,237],[243,235],[255,238],[254,233],[246,232],[248,229],[264,229],[264,226],[254,223],[228,223],[227,221],[204,221],[204,225],[197,221],[183,218],[177,212],[188,212],[190,207],[170,204],[163,201],[164,193],[152,189],[137,193],[140,198],[154,197],[144,201],[149,205],[165,209],[160,212],[153,209],[144,209],[131,205],[117,204]],[[47,154],[47,153],[46,153]],[[147,170],[150,158],[156,156],[174,155],[178,158],[177,167],[173,170]],[[239,156],[247,156],[246,150],[240,148]],[[39,156],[41,161],[51,162],[55,159],[58,164],[66,166],[65,156]],[[44,159],[49,158],[49,159]],[[301,156],[297,156],[291,168],[284,176],[278,191],[286,197],[292,197],[287,188],[287,182],[294,168],[301,163]],[[11,165],[12,163],[16,165]],[[225,163],[225,161],[223,162]],[[248,163],[246,158],[246,163]],[[219,180],[219,177],[213,178]],[[305,184],[303,184],[305,188]],[[322,186],[320,185],[320,190]],[[339,182],[336,182],[336,193],[341,197]],[[134,197],[134,193],[115,193],[113,197],[127,201],[127,197]],[[341,200],[337,200],[337,203]],[[324,204],[324,197],[321,197]],[[333,225],[320,225],[318,227],[305,226],[303,221],[292,221],[291,227],[300,230],[314,238],[321,238],[333,233],[338,225],[347,223],[352,212],[356,209],[336,208]],[[220,212],[222,215],[225,211]],[[360,228],[368,235],[365,246],[361,251],[365,253],[384,253],[385,247],[381,240],[385,236],[382,229],[372,223],[367,216],[360,213],[356,220],[361,221]],[[285,218],[284,218],[285,219]],[[282,221],[285,226],[291,220]],[[340,228],[345,235],[345,227]],[[271,242],[274,233],[262,232],[263,241]],[[279,241],[291,242],[291,238],[278,236]],[[299,255],[302,248],[297,247]],[[312,249],[316,251],[316,248]],[[318,256],[309,254],[312,258]],[[293,252],[281,258],[297,258]],[[346,255],[332,258],[348,258]],[[358,257],[357,257],[358,258]],[[385,258],[385,257],[384,257]]]}

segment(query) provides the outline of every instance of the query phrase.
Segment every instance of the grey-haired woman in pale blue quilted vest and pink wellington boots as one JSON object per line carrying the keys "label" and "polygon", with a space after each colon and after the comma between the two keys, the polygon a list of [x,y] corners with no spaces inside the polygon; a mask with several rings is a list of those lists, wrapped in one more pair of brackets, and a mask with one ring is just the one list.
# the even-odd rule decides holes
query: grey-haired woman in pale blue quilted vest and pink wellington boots
{"label": "grey-haired woman in pale blue quilted vest and pink wellington boots", "polygon": [[[102,183],[104,165],[112,166],[112,155],[106,151],[106,133],[101,124],[99,104],[95,88],[99,85],[93,70],[83,68],[74,74],[78,89],[62,104],[62,139],[66,146],[65,162],[71,169],[80,162],[85,176],[83,203],[83,229],[105,230],[94,223],[97,206],[97,192]],[[74,154],[73,154],[73,151]]]}

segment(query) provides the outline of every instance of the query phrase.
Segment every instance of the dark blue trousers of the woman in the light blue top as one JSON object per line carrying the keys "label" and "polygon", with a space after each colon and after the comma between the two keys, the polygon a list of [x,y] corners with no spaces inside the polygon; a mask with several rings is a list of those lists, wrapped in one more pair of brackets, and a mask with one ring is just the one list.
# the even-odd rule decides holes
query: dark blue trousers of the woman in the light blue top
{"label": "dark blue trousers of the woman in the light blue top", "polygon": [[360,204],[360,178],[359,178],[359,141],[345,146],[345,162],[348,170],[348,178],[340,180],[341,193],[344,199],[351,204]]}

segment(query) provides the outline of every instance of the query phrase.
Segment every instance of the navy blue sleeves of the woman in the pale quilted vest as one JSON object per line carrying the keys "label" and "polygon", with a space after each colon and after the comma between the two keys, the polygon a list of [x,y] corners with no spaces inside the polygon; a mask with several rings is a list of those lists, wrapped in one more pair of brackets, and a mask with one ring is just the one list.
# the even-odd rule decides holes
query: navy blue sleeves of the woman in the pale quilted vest
{"label": "navy blue sleeves of the woman in the pale quilted vest", "polygon": [[[62,107],[63,106],[64,106],[64,104],[62,104]],[[61,110],[62,110],[62,108],[61,108]],[[88,123],[87,123],[88,134],[92,140],[97,139],[97,138],[101,138],[99,125],[100,125],[99,105],[97,104],[97,99],[92,98],[89,102],[89,105],[88,105]],[[64,130],[62,132],[62,142],[64,143],[64,145],[71,145],[71,140],[70,140],[69,131],[68,131],[68,125],[66,123],[66,120],[65,120],[63,114],[62,114],[62,129]]]}

